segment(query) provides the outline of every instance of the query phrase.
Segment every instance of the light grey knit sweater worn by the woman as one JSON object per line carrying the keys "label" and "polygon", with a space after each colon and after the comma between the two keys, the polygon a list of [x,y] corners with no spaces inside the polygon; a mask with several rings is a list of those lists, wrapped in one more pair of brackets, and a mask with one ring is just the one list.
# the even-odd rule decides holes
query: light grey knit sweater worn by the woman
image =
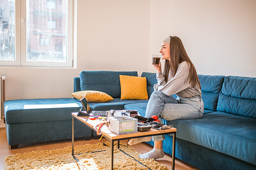
{"label": "light grey knit sweater worn by the woman", "polygon": [[168,76],[168,82],[164,80],[163,73],[156,74],[157,83],[154,90],[159,90],[167,96],[176,94],[179,97],[202,96],[200,87],[193,88],[189,83],[189,64],[181,62],[174,77]]}

